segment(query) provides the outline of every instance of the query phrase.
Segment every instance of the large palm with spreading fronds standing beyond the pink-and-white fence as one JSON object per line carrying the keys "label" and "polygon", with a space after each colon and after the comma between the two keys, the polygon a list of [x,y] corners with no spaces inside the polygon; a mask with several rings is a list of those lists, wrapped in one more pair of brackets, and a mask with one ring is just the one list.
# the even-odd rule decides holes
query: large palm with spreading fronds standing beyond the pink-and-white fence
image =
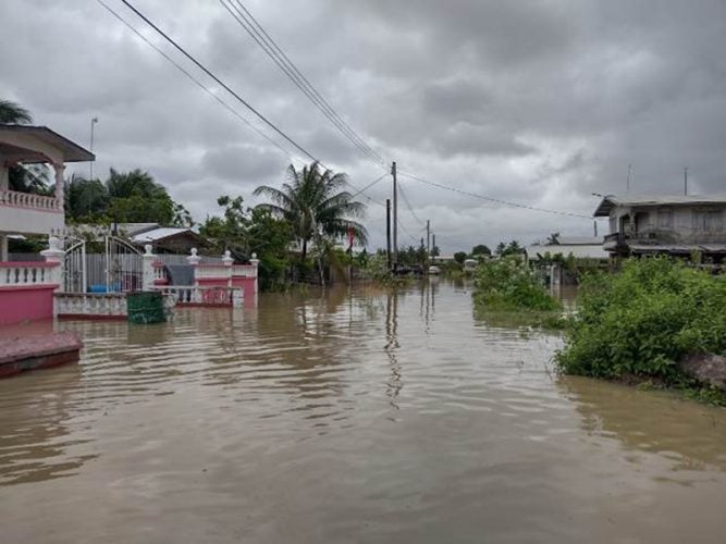
{"label": "large palm with spreading fronds standing beyond the pink-and-white fence", "polygon": [[261,185],[255,195],[263,195],[272,203],[261,203],[258,208],[269,210],[287,221],[295,237],[303,246],[303,259],[307,256],[308,243],[319,243],[323,236],[342,238],[353,232],[361,244],[366,243],[366,227],[354,221],[361,218],[366,206],[353,200],[348,191],[340,189],[347,183],[347,176],[323,170],[318,162],[303,170],[287,168],[287,183],[282,189]]}

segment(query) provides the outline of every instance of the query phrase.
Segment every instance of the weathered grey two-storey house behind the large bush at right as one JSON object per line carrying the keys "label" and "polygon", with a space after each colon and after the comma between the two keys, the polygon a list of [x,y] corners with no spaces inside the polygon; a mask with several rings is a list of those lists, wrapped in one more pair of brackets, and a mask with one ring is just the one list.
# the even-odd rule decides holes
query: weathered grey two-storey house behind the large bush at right
{"label": "weathered grey two-storey house behind the large bush at right", "polygon": [[726,195],[605,196],[594,212],[610,218],[604,249],[622,257],[666,254],[723,262],[726,256]]}

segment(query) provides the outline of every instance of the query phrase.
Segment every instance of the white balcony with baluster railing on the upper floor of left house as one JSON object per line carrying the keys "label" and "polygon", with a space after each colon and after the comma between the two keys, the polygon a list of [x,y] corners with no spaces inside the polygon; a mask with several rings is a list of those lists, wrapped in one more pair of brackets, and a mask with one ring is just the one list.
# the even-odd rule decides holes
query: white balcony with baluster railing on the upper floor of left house
{"label": "white balcony with baluster railing on the upper floor of left house", "polygon": [[63,224],[63,208],[54,196],[0,190],[0,232],[48,235],[61,232]]}

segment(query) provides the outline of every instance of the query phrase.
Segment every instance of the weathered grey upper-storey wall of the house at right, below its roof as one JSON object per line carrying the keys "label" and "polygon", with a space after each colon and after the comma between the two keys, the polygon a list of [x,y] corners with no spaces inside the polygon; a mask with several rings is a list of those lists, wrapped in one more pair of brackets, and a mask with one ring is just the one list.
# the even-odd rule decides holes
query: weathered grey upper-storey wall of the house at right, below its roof
{"label": "weathered grey upper-storey wall of the house at right, below its roof", "polygon": [[610,231],[664,244],[726,243],[726,205],[614,207]]}

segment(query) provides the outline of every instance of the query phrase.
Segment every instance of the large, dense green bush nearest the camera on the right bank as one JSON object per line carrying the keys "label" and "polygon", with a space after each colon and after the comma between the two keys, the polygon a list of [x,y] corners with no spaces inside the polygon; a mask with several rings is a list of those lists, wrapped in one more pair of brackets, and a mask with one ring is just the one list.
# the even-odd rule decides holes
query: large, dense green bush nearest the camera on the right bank
{"label": "large, dense green bush nearest the camera on the right bank", "polygon": [[686,379],[689,353],[726,353],[726,281],[667,258],[630,260],[618,275],[587,276],[556,362],[568,374]]}

